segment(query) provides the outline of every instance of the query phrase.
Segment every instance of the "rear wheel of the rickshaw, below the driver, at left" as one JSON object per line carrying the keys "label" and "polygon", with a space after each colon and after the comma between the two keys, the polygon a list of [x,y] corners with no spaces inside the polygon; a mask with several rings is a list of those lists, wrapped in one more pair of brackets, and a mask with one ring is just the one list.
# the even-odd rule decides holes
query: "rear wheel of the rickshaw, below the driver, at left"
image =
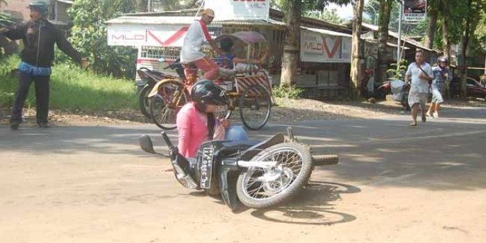
{"label": "rear wheel of the rickshaw, below the driver, at left", "polygon": [[165,130],[175,129],[176,115],[190,100],[184,85],[178,81],[167,81],[158,87],[156,96],[150,101],[150,115],[153,122]]}

